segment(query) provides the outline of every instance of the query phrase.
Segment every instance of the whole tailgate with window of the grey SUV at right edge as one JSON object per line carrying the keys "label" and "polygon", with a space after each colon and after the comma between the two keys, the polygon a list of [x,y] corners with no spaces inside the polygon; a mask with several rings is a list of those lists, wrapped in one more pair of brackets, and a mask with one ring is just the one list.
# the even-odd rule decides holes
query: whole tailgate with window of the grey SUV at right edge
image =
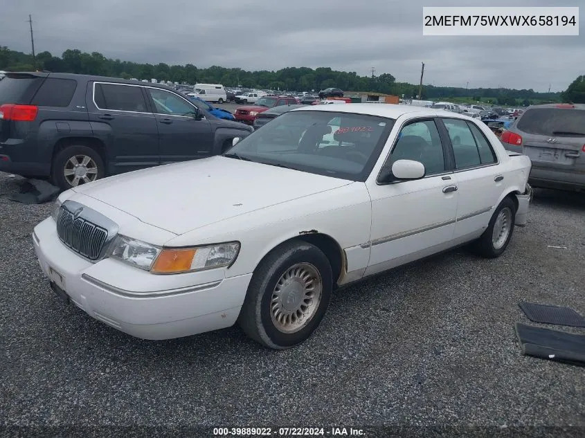
{"label": "whole tailgate with window of the grey SUV at right edge", "polygon": [[532,167],[585,173],[585,109],[530,108],[516,122]]}

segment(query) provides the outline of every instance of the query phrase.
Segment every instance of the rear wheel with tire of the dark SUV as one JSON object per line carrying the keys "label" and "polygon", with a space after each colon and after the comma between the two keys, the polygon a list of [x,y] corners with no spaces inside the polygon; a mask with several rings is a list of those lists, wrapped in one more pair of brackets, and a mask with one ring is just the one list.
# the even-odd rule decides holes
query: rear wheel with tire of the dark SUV
{"label": "rear wheel with tire of the dark SUV", "polygon": [[[89,159],[89,161],[87,161]],[[75,174],[71,174],[71,171],[75,172],[73,163],[82,165],[87,163],[85,167],[86,173],[77,179],[75,183]],[[83,172],[80,171],[78,176]],[[66,175],[67,173],[67,175]],[[95,176],[94,176],[95,175]],[[102,157],[95,149],[88,146],[75,145],[68,146],[55,156],[53,160],[53,168],[51,170],[51,179],[53,184],[57,185],[62,190],[68,190],[77,185],[89,183],[102,179],[105,176],[105,165]]]}

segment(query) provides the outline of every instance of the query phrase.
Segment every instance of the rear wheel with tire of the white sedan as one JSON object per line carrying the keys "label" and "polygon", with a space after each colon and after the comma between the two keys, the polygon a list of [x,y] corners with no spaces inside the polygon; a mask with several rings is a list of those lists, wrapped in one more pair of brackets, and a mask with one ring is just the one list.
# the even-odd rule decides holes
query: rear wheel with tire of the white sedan
{"label": "rear wheel with tire of the white sedan", "polygon": [[[502,223],[500,219],[507,223],[507,231],[503,230],[505,223]],[[488,259],[500,257],[510,243],[510,239],[512,239],[515,219],[516,206],[514,201],[509,197],[505,197],[496,208],[496,211],[494,211],[492,219],[489,219],[489,225],[481,237],[474,242],[473,248],[475,252]],[[494,237],[494,229],[500,230],[496,237]],[[506,233],[505,236],[502,235],[502,232]]]}

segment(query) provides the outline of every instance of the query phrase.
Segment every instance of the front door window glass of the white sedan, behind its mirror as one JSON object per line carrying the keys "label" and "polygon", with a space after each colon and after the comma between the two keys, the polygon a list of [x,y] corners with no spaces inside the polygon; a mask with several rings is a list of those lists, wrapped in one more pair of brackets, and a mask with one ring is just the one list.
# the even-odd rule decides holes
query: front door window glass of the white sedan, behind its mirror
{"label": "front door window glass of the white sedan, behind its mirror", "polygon": [[444,172],[443,147],[437,125],[433,120],[412,122],[398,134],[391,156],[392,161],[414,160],[424,164],[427,175]]}

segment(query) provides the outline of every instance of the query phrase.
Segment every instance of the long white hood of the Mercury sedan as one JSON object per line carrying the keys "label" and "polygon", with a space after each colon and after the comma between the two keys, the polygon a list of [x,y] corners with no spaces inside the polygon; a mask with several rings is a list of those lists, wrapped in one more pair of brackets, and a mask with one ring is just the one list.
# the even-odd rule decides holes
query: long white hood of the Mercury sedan
{"label": "long white hood of the Mercury sedan", "polygon": [[181,235],[352,181],[212,156],[138,170],[73,190]]}

